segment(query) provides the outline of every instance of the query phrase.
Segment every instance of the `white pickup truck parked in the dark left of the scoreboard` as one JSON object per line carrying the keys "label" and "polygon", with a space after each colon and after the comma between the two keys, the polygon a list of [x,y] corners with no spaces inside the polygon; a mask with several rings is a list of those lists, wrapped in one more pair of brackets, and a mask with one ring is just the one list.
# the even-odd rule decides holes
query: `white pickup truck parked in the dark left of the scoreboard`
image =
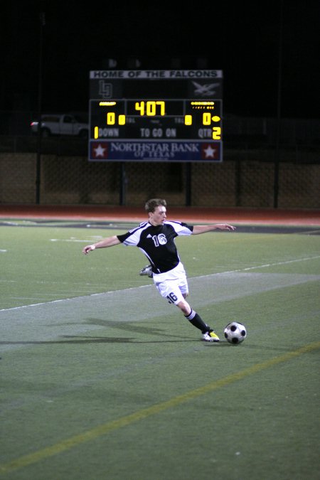
{"label": "white pickup truck parked in the dark left of the scoreboard", "polygon": [[[38,122],[31,122],[31,132],[38,133]],[[41,133],[43,137],[73,135],[87,139],[89,125],[70,114],[43,114],[41,116]]]}

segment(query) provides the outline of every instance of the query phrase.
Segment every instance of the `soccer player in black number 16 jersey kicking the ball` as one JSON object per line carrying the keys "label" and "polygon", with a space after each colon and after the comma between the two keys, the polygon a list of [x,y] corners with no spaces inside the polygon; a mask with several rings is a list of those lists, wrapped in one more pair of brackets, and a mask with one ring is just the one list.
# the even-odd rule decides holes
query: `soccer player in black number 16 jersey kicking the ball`
{"label": "soccer player in black number 16 jersey kicking the ball", "polygon": [[82,253],[87,255],[96,248],[113,247],[119,243],[139,247],[151,264],[152,278],[161,296],[170,304],[178,306],[186,319],[201,330],[203,341],[219,341],[215,331],[205,324],[201,316],[186,302],[188,282],[174,239],[178,235],[198,235],[215,229],[235,230],[235,227],[228,223],[187,225],[166,220],[166,201],[162,198],[151,198],[146,202],[145,209],[149,215],[148,221],[122,235],[113,235],[93,245],[87,245]]}

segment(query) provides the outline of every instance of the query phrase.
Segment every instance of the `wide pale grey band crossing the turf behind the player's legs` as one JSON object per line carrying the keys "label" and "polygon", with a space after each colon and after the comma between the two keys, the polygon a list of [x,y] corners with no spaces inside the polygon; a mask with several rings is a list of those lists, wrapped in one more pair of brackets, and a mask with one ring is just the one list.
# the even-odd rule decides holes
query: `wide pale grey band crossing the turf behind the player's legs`
{"label": "wide pale grey band crossing the turf behind the player's legs", "polygon": [[[319,282],[320,275],[224,272],[189,281],[195,309],[285,287]],[[1,351],[79,336],[110,325],[164,318],[174,307],[166,304],[153,284],[85,297],[60,299],[0,311]],[[134,312],[134,318],[132,317]],[[118,327],[119,328],[119,327]],[[94,333],[93,333],[94,334]]]}

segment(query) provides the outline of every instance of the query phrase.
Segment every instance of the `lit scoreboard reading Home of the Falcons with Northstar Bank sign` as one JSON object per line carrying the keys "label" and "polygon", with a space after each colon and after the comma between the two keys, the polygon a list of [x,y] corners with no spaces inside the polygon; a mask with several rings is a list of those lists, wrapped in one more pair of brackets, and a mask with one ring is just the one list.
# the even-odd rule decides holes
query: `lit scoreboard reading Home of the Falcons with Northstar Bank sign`
{"label": "lit scoreboard reading Home of the Falcons with Northstar Bank sign", "polygon": [[90,71],[90,161],[223,160],[221,70]]}

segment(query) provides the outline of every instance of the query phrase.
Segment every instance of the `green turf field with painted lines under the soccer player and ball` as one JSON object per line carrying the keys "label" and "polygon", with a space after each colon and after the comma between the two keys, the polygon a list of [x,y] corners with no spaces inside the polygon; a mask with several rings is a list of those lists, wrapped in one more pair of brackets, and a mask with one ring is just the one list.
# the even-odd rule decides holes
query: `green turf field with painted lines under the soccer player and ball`
{"label": "green turf field with painted lines under the soccer player and ball", "polygon": [[0,478],[319,480],[320,235],[178,238],[210,344],[124,230],[0,227]]}

